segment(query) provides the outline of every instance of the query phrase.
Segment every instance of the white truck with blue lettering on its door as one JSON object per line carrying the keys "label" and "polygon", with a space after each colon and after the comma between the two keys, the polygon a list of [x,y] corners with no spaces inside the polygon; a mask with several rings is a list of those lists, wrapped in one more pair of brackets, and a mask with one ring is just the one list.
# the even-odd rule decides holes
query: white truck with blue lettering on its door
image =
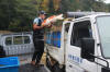
{"label": "white truck with blue lettering on its door", "polygon": [[59,47],[48,36],[46,65],[53,72],[110,72],[110,14],[72,14],[85,16],[63,22]]}

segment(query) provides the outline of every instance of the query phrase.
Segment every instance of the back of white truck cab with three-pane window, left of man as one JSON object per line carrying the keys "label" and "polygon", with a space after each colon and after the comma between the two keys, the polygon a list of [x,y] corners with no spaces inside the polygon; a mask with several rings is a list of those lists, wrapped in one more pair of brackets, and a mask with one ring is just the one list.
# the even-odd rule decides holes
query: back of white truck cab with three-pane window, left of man
{"label": "back of white truck cab with three-pane window, left of man", "polygon": [[32,34],[32,32],[1,34],[0,46],[3,47],[6,56],[16,56],[22,61],[31,60],[34,51]]}

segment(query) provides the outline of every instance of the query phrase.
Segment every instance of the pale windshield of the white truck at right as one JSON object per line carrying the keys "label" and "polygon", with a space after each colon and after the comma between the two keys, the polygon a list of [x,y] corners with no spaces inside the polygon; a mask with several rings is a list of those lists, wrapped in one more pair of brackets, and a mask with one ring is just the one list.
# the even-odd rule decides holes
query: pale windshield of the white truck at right
{"label": "pale windshield of the white truck at right", "polygon": [[98,16],[97,26],[100,35],[102,55],[105,58],[110,58],[110,15]]}

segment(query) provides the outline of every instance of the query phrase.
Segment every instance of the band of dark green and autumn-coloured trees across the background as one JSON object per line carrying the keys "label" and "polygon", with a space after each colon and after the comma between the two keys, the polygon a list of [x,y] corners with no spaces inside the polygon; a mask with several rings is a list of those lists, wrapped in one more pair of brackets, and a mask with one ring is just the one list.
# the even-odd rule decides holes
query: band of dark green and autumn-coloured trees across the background
{"label": "band of dark green and autumn-coloured trees across the background", "polygon": [[41,10],[48,15],[67,11],[109,12],[110,4],[103,0],[0,0],[0,29],[32,31],[33,20]]}

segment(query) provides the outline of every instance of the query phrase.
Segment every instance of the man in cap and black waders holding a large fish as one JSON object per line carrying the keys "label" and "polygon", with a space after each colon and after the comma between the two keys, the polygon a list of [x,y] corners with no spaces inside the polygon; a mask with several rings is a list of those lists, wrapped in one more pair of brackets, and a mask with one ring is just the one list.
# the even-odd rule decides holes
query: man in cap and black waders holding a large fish
{"label": "man in cap and black waders holding a large fish", "polygon": [[44,52],[44,27],[51,26],[51,24],[48,24],[48,26],[42,25],[42,22],[44,21],[45,17],[46,17],[45,11],[41,11],[38,13],[38,17],[34,19],[33,22],[33,43],[35,50],[31,63],[36,67],[40,65],[40,61]]}

